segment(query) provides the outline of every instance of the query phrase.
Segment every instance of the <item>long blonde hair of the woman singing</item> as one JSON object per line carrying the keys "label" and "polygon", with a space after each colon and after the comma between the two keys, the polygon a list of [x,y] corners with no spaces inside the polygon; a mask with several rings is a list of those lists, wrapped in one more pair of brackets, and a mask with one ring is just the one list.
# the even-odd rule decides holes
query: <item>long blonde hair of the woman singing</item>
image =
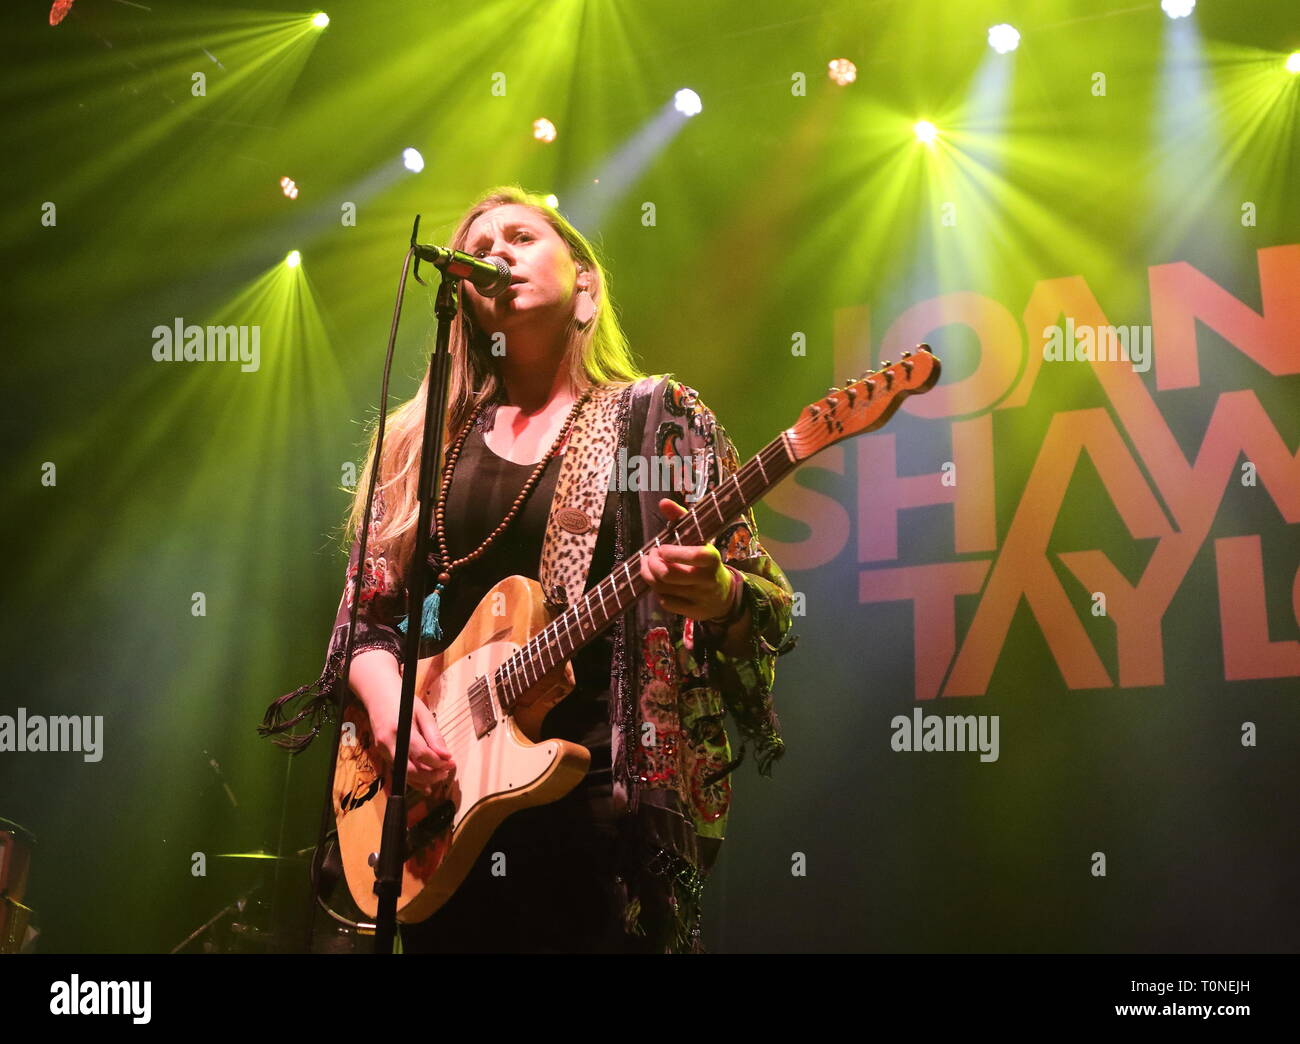
{"label": "long blonde hair of the woman singing", "polygon": [[[610,276],[604,270],[595,250],[568,218],[551,207],[545,196],[528,192],[519,185],[503,185],[489,189],[469,208],[451,239],[452,250],[464,250],[469,226],[480,215],[504,204],[528,207],[550,222],[556,234],[568,243],[575,264],[584,265],[590,273],[589,293],[595,302],[595,316],[585,326],[580,326],[573,316],[566,326],[564,354],[560,369],[568,374],[568,382],[575,394],[581,394],[592,385],[624,386],[645,377],[632,359],[628,338],[619,325],[614,302],[610,296]],[[452,324],[448,350],[451,352],[451,376],[447,400],[447,426],[443,432],[443,452],[458,434],[473,408],[481,402],[499,398],[503,393],[497,372],[498,356],[491,352],[491,339],[477,326],[468,302],[462,295],[462,307]],[[374,532],[373,541],[385,551],[389,569],[400,577],[415,549],[415,529],[419,519],[416,486],[420,477],[420,441],[424,432],[425,402],[429,393],[429,373],[416,394],[402,406],[393,410],[385,424],[384,459],[380,465],[380,481],[376,501],[382,498],[384,512]],[[378,420],[369,436],[365,454],[365,467],[356,482],[356,494],[348,511],[343,532],[344,546],[350,547],[365,517],[365,494],[369,489],[370,468],[374,460],[374,443],[378,436]],[[369,556],[370,550],[367,550]]]}

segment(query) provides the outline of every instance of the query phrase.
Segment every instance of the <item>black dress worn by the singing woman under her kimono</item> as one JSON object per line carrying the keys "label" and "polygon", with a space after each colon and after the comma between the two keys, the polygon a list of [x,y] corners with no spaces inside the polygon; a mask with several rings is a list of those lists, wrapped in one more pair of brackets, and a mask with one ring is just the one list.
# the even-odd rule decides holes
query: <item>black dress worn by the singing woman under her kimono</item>
{"label": "black dress worn by the singing woman under her kimono", "polygon": [[[447,497],[452,558],[477,547],[506,516],[534,465],[493,452],[484,430],[493,411],[465,438]],[[442,594],[443,638],[450,645],[478,602],[507,576],[537,579],[546,520],[563,455],[551,458],[520,514],[484,555],[456,568]],[[612,569],[616,497],[606,498],[588,586]],[[456,893],[420,924],[402,926],[407,953],[638,952],[645,939],[623,928],[623,875],[629,850],[627,816],[615,813],[610,777],[610,655],[612,628],[572,659],[576,685],[546,716],[542,737],[592,751],[588,776],[550,805],[506,819]],[[504,855],[504,874],[495,853]]]}

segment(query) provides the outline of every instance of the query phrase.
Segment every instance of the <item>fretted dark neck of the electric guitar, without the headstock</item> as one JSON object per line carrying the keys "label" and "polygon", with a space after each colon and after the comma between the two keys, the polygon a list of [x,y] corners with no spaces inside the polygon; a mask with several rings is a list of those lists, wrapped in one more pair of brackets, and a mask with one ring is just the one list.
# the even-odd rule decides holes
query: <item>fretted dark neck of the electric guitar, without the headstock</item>
{"label": "fretted dark neck of the electric guitar, without the headstock", "polygon": [[790,451],[789,439],[790,433],[781,432],[740,471],[702,495],[688,515],[655,533],[578,602],[568,606],[508,657],[497,670],[497,684],[508,703],[514,705],[538,679],[598,637],[650,590],[641,576],[641,559],[651,549],[660,543],[708,543],[741,512],[763,499],[800,463]]}

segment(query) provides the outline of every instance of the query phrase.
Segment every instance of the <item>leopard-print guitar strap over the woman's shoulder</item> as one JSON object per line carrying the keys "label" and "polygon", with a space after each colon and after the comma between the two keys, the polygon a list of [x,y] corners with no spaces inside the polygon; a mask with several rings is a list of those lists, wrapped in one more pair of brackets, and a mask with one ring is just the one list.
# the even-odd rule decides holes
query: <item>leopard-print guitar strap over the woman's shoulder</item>
{"label": "leopard-print guitar strap over the woman's shoulder", "polygon": [[619,449],[619,399],[630,393],[630,387],[595,389],[569,430],[537,571],[542,594],[552,608],[573,605],[586,590]]}

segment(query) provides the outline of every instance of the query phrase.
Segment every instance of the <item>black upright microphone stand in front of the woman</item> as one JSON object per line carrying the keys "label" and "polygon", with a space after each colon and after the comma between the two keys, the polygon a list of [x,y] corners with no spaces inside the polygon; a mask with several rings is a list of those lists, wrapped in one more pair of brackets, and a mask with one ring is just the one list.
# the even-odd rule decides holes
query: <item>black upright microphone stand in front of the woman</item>
{"label": "black upright microphone stand in front of the woman", "polygon": [[[411,230],[411,248],[415,251],[420,218]],[[415,261],[416,282],[420,278],[420,256]],[[442,282],[434,303],[438,333],[433,354],[429,356],[429,391],[424,408],[424,438],[420,446],[420,514],[416,523],[415,551],[406,572],[407,634],[402,658],[402,699],[398,709],[398,733],[393,750],[393,792],[384,814],[384,840],[374,868],[374,894],[378,911],[374,922],[374,952],[393,953],[396,937],[398,897],[402,894],[402,866],[406,863],[407,822],[407,757],[411,746],[411,723],[415,715],[415,675],[420,662],[420,619],[424,615],[424,595],[428,586],[429,523],[437,497],[438,462],[442,459],[442,432],[447,412],[447,384],[451,372],[448,343],[451,324],[459,311],[459,278],[442,272]],[[376,464],[376,467],[378,467]]]}

